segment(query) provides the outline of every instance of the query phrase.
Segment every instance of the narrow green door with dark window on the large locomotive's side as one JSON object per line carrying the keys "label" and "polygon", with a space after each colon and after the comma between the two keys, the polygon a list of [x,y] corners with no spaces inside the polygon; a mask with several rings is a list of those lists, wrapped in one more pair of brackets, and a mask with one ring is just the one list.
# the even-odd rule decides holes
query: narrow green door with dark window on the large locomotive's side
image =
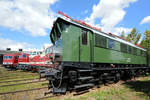
{"label": "narrow green door with dark window on the large locomotive's side", "polygon": [[92,62],[92,33],[82,29],[79,44],[79,62]]}

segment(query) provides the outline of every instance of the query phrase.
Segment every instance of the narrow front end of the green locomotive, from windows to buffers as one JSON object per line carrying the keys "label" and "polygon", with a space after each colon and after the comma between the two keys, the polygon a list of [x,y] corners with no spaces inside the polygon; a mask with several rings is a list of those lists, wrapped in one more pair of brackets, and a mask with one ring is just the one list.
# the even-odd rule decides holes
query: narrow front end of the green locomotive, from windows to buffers
{"label": "narrow front end of the green locomotive, from windows to buffers", "polygon": [[[63,24],[63,25],[62,25]],[[62,59],[63,59],[63,40],[62,40],[62,32],[67,30],[67,26],[64,23],[59,23],[57,20],[50,34],[50,39],[53,43],[52,46],[52,54],[53,57],[50,56],[50,59],[53,63],[53,68],[45,72],[46,79],[49,80],[49,84],[53,86],[53,93],[65,93],[66,87],[62,87]]]}

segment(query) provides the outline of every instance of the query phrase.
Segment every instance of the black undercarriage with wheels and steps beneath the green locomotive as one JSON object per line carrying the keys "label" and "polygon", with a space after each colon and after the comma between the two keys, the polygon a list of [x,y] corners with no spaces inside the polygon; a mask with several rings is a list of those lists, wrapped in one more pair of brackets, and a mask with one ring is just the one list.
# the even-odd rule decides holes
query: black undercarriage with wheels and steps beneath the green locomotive
{"label": "black undercarriage with wheels and steps beneath the green locomotive", "polygon": [[53,68],[45,74],[49,89],[52,87],[51,92],[65,94],[66,91],[78,91],[110,81],[118,82],[149,72],[150,68],[146,65],[63,62],[59,68]]}

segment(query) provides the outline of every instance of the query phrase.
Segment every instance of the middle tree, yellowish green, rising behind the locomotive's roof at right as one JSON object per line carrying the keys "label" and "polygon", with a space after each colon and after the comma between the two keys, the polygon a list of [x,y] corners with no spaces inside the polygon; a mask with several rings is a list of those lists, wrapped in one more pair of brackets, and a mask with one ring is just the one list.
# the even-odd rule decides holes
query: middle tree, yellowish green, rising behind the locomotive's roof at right
{"label": "middle tree, yellowish green, rising behind the locomotive's roof at right", "polygon": [[138,33],[136,28],[133,28],[131,33],[128,34],[128,36],[126,37],[126,39],[133,44],[137,44],[140,38],[141,38],[141,34]]}

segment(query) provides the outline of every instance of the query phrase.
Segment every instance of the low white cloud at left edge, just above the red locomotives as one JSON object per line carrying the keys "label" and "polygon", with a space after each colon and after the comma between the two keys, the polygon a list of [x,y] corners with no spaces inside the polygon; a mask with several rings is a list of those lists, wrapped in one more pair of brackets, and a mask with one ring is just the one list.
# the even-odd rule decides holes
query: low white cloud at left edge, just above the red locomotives
{"label": "low white cloud at left edge, just above the red locomotives", "polygon": [[4,39],[0,37],[0,49],[6,50],[6,48],[11,48],[11,50],[24,49],[30,47],[31,45],[26,42],[16,42],[10,39]]}

